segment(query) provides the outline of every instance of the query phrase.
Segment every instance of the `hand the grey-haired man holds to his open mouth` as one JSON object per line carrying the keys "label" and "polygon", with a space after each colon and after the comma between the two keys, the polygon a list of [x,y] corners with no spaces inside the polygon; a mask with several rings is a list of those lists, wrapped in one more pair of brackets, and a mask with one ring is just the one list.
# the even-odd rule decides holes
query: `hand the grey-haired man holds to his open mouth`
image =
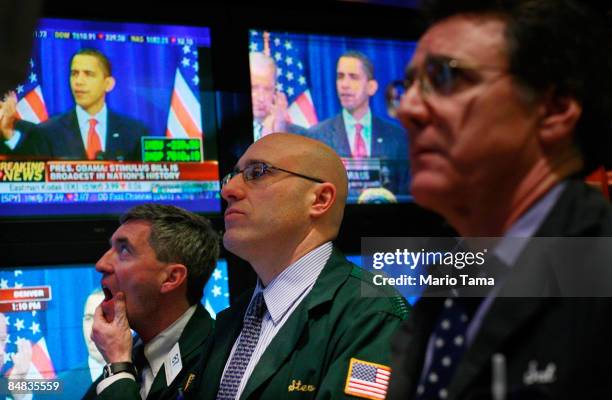
{"label": "hand the grey-haired man holds to his open mouth", "polygon": [[132,361],[132,333],[125,311],[125,294],[118,292],[94,312],[91,331],[100,353],[108,363]]}

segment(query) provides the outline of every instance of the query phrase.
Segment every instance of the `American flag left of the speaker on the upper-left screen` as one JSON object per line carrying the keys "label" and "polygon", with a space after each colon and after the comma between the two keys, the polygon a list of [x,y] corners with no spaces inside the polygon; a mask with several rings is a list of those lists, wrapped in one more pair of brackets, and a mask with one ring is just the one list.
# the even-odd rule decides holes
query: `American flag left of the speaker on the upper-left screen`
{"label": "American flag left of the speaker on the upper-left screen", "polygon": [[30,59],[30,70],[26,81],[15,89],[18,100],[18,118],[35,124],[44,122],[49,118],[41,90],[40,77],[40,62],[32,58]]}

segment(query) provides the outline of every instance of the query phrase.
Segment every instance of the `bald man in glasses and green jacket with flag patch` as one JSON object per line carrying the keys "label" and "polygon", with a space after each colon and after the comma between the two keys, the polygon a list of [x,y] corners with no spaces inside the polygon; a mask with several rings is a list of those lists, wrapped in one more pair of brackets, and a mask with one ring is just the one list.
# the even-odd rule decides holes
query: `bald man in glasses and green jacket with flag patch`
{"label": "bald man in glasses and green jacket with flag patch", "polygon": [[[218,315],[202,398],[386,391],[389,339],[408,306],[397,292],[370,286],[367,273],[333,247],[347,186],[330,147],[287,133],[255,142],[223,179],[223,243],[251,264],[258,282]],[[364,289],[372,296],[362,297]],[[360,391],[356,376],[377,373],[382,383]]]}

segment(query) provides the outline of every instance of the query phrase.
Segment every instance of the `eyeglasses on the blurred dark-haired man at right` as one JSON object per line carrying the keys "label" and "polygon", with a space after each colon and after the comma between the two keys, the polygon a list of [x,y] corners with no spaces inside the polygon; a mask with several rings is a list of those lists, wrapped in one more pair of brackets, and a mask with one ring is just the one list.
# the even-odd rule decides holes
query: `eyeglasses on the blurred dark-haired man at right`
{"label": "eyeglasses on the blurred dark-haired man at right", "polygon": [[397,109],[402,95],[417,81],[421,95],[449,96],[462,84],[475,81],[472,73],[480,70],[501,71],[502,75],[508,73],[507,69],[502,67],[473,65],[452,57],[430,54],[425,57],[422,69],[410,67],[406,70],[404,80],[389,84],[386,91],[387,105]]}

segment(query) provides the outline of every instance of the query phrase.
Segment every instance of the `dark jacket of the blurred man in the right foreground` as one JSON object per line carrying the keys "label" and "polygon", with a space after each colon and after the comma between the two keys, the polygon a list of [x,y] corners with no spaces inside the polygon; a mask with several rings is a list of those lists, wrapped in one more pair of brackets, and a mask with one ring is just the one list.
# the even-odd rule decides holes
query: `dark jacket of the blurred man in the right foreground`
{"label": "dark jacket of the blurred man in the right foreground", "polygon": [[[536,236],[610,237],[612,206],[600,193],[570,180]],[[564,286],[571,288],[578,282],[592,287],[593,295],[596,288],[603,288],[609,296],[612,265],[592,262],[591,254],[558,254],[556,250],[528,245],[519,256],[457,366],[448,399],[490,399],[491,357],[496,353],[506,357],[508,400],[610,396],[612,302],[605,297],[557,296]],[[568,257],[575,261],[568,263]],[[573,265],[568,268],[568,264]],[[530,284],[527,290],[538,297],[504,298],[517,282]],[[422,298],[394,337],[394,374],[388,398],[414,397],[443,300]],[[554,370],[552,381],[533,379],[534,371],[547,369]]]}

